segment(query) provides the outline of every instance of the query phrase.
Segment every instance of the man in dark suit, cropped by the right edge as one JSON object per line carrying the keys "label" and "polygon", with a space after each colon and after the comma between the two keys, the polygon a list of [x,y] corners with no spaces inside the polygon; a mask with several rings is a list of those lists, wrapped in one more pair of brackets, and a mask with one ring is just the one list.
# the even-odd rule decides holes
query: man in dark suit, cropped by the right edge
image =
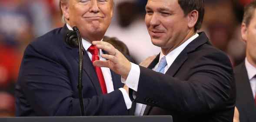
{"label": "man in dark suit, cropped by the right edge", "polygon": [[246,43],[246,59],[235,67],[236,107],[240,122],[256,121],[256,1],[244,9],[241,34]]}

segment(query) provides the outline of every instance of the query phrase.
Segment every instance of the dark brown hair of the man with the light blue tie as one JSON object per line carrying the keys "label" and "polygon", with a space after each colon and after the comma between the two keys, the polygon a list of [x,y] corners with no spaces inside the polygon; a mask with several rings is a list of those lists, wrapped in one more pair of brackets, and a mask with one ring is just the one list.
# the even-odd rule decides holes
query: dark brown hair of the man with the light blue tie
{"label": "dark brown hair of the man with the light blue tie", "polygon": [[203,23],[204,16],[204,0],[178,0],[185,16],[193,10],[198,11],[198,20],[194,27],[195,31],[199,30]]}

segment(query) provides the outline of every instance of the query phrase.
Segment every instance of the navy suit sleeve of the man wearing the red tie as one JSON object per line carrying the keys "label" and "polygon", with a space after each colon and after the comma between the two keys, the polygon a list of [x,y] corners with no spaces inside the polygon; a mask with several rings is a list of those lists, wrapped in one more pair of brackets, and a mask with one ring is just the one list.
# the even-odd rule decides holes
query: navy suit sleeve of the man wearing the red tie
{"label": "navy suit sleeve of the man wearing the red tie", "polygon": [[[49,48],[42,53],[42,49],[32,45],[27,47],[19,77],[24,95],[37,115],[80,115],[80,102],[73,97],[70,73],[57,59],[54,59],[57,56],[51,51],[52,49]],[[84,98],[83,102],[86,115],[127,114],[120,90]]]}

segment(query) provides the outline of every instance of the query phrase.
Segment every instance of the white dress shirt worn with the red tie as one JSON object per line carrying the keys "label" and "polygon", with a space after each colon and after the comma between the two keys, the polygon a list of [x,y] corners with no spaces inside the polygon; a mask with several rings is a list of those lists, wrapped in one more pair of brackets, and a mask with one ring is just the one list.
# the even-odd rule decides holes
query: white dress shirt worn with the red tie
{"label": "white dress shirt worn with the red tie", "polygon": [[[73,30],[72,27],[69,24],[66,24],[66,26],[69,30]],[[86,53],[88,54],[88,56],[92,60],[93,55],[88,51],[88,49],[90,48],[90,46],[92,44],[90,42],[84,40],[83,38],[82,38],[82,43],[83,43],[83,48],[86,50]],[[100,60],[106,60],[101,56],[101,54],[103,54],[102,49],[100,49],[100,51],[99,51]],[[103,77],[104,77],[104,80],[105,80],[107,93],[113,92],[114,91],[114,86],[113,86],[113,80],[112,80],[110,69],[106,68],[106,67],[100,67],[100,68],[101,68],[101,71],[103,73]],[[123,94],[123,98],[124,98],[124,101],[125,101],[125,104],[126,104],[126,108],[130,109],[132,107],[132,101],[130,100],[130,97],[129,97],[128,93],[123,88],[119,88],[119,90]]]}

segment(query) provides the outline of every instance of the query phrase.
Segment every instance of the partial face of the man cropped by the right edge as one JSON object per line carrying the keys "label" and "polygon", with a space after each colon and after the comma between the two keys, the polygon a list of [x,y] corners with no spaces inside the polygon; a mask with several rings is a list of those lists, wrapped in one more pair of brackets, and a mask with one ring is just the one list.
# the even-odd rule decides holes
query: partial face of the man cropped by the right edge
{"label": "partial face of the man cropped by the right edge", "polygon": [[249,25],[242,24],[242,38],[246,42],[246,57],[256,66],[256,10]]}

